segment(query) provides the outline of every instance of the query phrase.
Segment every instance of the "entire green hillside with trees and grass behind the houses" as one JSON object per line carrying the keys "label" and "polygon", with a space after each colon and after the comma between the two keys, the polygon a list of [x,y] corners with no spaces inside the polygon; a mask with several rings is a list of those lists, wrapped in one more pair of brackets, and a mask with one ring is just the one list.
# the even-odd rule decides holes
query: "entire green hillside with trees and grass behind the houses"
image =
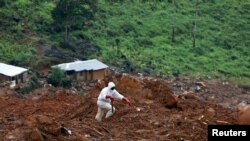
{"label": "entire green hillside with trees and grass behind the houses", "polygon": [[250,0],[0,0],[0,61],[97,58],[129,73],[250,84]]}

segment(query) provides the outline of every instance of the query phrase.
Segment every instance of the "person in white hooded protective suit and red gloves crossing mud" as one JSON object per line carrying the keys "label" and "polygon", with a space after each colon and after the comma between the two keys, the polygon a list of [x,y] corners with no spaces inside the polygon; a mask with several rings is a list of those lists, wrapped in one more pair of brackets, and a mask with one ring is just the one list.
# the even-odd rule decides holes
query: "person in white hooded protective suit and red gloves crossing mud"
{"label": "person in white hooded protective suit and red gloves crossing mud", "polygon": [[115,90],[115,84],[113,82],[109,82],[108,86],[102,89],[97,99],[98,111],[95,117],[97,121],[100,122],[102,120],[105,111],[108,111],[105,118],[109,118],[113,115],[115,112],[115,107],[111,105],[111,102],[114,99],[122,100],[125,103],[130,104],[128,98],[124,97]]}

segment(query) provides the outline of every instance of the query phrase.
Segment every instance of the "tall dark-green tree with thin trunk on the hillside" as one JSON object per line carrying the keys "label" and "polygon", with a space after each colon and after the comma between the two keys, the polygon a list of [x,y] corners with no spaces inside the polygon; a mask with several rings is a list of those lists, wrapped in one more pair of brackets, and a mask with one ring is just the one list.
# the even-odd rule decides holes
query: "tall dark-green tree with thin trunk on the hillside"
{"label": "tall dark-green tree with thin trunk on the hillside", "polygon": [[64,41],[69,39],[72,27],[82,27],[87,20],[94,18],[97,0],[60,0],[52,11],[56,24],[65,30]]}

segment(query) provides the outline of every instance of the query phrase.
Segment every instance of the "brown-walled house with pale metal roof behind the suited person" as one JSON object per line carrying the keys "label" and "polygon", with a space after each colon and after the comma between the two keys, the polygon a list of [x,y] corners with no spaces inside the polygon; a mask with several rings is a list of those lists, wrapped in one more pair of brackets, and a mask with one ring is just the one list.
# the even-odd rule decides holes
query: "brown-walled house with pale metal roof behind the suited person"
{"label": "brown-walled house with pale metal roof behind the suited person", "polygon": [[63,63],[52,67],[59,67],[66,71],[71,78],[84,81],[103,79],[108,68],[106,64],[97,59]]}

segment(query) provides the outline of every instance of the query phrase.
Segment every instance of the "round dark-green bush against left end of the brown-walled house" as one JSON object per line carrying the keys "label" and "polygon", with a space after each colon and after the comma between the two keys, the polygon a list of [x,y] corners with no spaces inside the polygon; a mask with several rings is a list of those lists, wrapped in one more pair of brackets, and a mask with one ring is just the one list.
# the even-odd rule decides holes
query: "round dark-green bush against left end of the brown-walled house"
{"label": "round dark-green bush against left end of the brown-walled house", "polygon": [[71,87],[70,78],[58,67],[52,69],[51,74],[49,74],[47,78],[47,82],[55,87]]}

